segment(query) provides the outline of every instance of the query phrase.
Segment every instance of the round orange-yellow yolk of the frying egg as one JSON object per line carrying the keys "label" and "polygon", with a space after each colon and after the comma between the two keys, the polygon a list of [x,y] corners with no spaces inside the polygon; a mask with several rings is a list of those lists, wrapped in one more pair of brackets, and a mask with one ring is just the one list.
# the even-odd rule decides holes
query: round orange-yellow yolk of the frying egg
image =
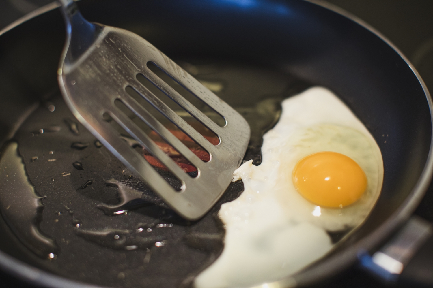
{"label": "round orange-yellow yolk of the frying egg", "polygon": [[302,158],[293,170],[292,180],[304,198],[331,208],[352,204],[367,187],[367,177],[358,163],[336,152],[319,152]]}

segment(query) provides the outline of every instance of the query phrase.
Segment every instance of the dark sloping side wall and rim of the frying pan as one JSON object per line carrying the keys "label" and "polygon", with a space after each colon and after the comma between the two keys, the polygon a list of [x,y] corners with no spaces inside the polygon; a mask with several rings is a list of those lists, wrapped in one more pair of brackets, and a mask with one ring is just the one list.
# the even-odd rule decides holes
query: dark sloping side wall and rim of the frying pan
{"label": "dark sloping side wall and rim of the frying pan", "polygon": [[[368,220],[326,258],[273,285],[311,285],[341,272],[359,251],[384,243],[420,202],[433,165],[430,95],[404,55],[354,17],[304,0],[85,0],[79,6],[86,19],[131,30],[171,58],[263,64],[328,87],[375,137],[385,175]],[[0,32],[0,145],[56,86],[65,32],[55,8]],[[2,269],[46,287],[94,287],[34,267],[0,220]]]}

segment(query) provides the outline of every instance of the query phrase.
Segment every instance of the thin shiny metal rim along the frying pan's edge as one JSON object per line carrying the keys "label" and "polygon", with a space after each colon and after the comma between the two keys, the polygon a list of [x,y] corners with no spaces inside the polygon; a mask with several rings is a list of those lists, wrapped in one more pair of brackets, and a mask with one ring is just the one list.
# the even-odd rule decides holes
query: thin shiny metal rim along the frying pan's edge
{"label": "thin shiny metal rim along the frying pan's edge", "polygon": [[[76,0],[77,1],[77,0]],[[430,139],[430,150],[427,156],[426,164],[424,165],[423,171],[415,184],[414,188],[411,190],[410,194],[406,197],[405,201],[397,208],[394,213],[388,217],[386,221],[384,221],[378,228],[376,228],[372,233],[368,234],[358,242],[352,244],[350,247],[339,251],[338,253],[327,257],[326,261],[320,263],[317,266],[311,267],[311,269],[307,269],[303,272],[299,272],[293,276],[289,276],[280,281],[265,283],[268,284],[268,287],[294,287],[294,286],[305,286],[312,284],[313,282],[317,282],[323,280],[325,278],[329,278],[332,275],[336,275],[341,272],[343,269],[352,265],[357,260],[357,254],[359,251],[373,251],[376,246],[386,240],[386,238],[392,234],[398,227],[407,221],[407,219],[411,216],[414,210],[417,208],[419,203],[421,202],[425,192],[427,191],[428,186],[430,185],[430,181],[432,179],[433,174],[433,102],[430,96],[430,93],[425,85],[423,79],[418,74],[415,67],[410,63],[410,61],[404,56],[404,54],[384,35],[382,35],[378,30],[370,26],[368,23],[364,22],[362,19],[352,15],[351,13],[343,10],[342,8],[335,6],[331,3],[328,3],[323,0],[303,0],[305,2],[309,2],[315,4],[317,6],[321,6],[327,10],[333,11],[341,16],[344,16],[353,22],[356,22],[358,25],[367,29],[369,32],[372,32],[386,44],[388,44],[397,54],[406,62],[406,64],[410,67],[412,72],[417,77],[418,82],[423,88],[423,92],[426,96],[427,103],[430,109],[430,121],[432,123],[432,138]],[[12,22],[10,25],[4,27],[0,30],[0,36],[4,33],[12,30],[16,26],[35,18],[37,16],[42,15],[48,11],[54,10],[58,8],[60,4],[57,2],[49,3],[45,6],[42,6],[33,12],[17,19]],[[343,258],[343,259],[342,259]],[[103,288],[106,286],[99,285],[90,285],[84,282],[70,280],[58,275],[55,275],[50,272],[45,272],[42,269],[33,267],[25,262],[22,262],[14,257],[6,254],[5,252],[0,250],[0,269],[5,272],[10,273],[15,277],[19,277],[23,281],[31,283],[33,285],[39,285],[49,288]],[[264,287],[260,285],[260,287]]]}

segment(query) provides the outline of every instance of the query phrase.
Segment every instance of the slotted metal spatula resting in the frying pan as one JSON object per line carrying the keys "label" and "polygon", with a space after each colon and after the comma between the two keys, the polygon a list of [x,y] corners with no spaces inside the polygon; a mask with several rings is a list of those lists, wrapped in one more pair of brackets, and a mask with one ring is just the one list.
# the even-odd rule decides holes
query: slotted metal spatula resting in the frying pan
{"label": "slotted metal spatula resting in the frying pan", "polygon": [[[133,173],[147,182],[178,214],[189,220],[202,217],[223,194],[232,180],[233,171],[242,161],[250,136],[248,123],[233,108],[145,39],[123,29],[87,22],[72,0],[60,2],[66,22],[67,39],[58,68],[58,83],[69,108],[105,147]],[[156,76],[146,65],[149,61],[222,115],[226,125],[216,125]],[[144,75],[174,102],[218,135],[220,144],[211,144],[187,124],[161,99],[145,88],[137,80],[137,74]],[[128,86],[206,150],[211,160],[200,160],[139,102],[126,93],[125,89]],[[197,167],[198,176],[192,178],[184,173],[144,131],[117,108],[115,100],[123,102]],[[181,181],[181,191],[173,189],[142,155],[120,138],[120,134],[103,119],[104,113],[108,113]]]}

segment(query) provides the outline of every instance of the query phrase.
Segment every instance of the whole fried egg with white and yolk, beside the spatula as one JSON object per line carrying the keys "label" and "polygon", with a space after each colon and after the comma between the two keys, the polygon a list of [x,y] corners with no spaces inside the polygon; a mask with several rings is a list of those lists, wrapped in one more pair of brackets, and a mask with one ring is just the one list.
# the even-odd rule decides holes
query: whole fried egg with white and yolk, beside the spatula
{"label": "whole fried egg with white and yolk, beside the spatula", "polygon": [[263,136],[262,163],[233,173],[244,191],[221,205],[222,254],[196,288],[241,288],[290,276],[325,256],[329,232],[350,233],[377,201],[380,149],[367,128],[330,90],[313,87],[284,100]]}

